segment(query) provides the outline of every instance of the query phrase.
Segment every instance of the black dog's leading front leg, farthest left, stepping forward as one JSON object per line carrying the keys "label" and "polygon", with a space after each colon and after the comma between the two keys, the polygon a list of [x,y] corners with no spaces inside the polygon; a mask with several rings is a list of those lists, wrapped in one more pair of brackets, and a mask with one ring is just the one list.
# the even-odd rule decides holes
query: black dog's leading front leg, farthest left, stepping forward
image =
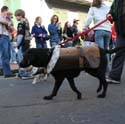
{"label": "black dog's leading front leg, farthest left, stepping forward", "polygon": [[59,88],[64,80],[64,77],[57,77],[57,78],[55,78],[55,80],[56,81],[55,81],[52,93],[49,96],[45,96],[43,99],[51,100],[51,99],[53,99],[54,96],[57,95],[57,92],[58,92],[58,90],[59,90]]}

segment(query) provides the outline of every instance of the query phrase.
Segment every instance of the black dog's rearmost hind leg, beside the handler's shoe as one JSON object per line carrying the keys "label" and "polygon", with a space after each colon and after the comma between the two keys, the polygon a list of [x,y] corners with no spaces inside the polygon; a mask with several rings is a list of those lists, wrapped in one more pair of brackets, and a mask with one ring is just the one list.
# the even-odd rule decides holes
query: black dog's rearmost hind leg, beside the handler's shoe
{"label": "black dog's rearmost hind leg, beside the handler's shoe", "polygon": [[105,78],[100,78],[100,83],[103,86],[103,91],[102,91],[102,93],[100,95],[98,95],[98,98],[105,98],[106,97],[108,83],[106,82]]}

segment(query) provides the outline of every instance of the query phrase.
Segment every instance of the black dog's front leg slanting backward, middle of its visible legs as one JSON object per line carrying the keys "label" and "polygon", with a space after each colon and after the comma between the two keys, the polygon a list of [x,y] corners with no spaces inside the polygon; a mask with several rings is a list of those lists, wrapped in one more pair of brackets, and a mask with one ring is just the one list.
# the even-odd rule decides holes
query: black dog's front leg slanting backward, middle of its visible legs
{"label": "black dog's front leg slanting backward, middle of its visible legs", "polygon": [[81,98],[82,98],[82,94],[81,94],[81,92],[78,91],[78,89],[76,88],[74,79],[67,77],[67,80],[69,81],[69,84],[70,84],[70,87],[72,88],[72,90],[77,93],[77,99],[81,99]]}

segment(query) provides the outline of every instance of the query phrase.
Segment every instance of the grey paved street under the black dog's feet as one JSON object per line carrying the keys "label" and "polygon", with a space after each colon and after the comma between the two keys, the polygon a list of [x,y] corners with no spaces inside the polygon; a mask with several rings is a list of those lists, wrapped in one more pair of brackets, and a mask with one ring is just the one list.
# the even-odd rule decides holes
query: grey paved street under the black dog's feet
{"label": "grey paved street under the black dog's feet", "polygon": [[53,87],[51,76],[36,85],[1,77],[0,124],[125,124],[125,73],[122,84],[109,85],[106,99],[96,98],[98,80],[92,76],[82,72],[75,81],[82,100],[65,80],[58,96],[45,101]]}

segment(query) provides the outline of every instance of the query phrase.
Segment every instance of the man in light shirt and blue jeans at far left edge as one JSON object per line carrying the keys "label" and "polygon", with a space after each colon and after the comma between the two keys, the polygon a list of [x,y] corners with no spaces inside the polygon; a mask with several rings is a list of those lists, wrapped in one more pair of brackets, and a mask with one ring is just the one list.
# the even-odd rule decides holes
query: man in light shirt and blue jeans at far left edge
{"label": "man in light shirt and blue jeans at far left edge", "polygon": [[8,21],[9,8],[3,6],[0,15],[0,54],[2,69],[5,78],[15,77],[10,69],[10,32],[13,30],[12,22]]}

